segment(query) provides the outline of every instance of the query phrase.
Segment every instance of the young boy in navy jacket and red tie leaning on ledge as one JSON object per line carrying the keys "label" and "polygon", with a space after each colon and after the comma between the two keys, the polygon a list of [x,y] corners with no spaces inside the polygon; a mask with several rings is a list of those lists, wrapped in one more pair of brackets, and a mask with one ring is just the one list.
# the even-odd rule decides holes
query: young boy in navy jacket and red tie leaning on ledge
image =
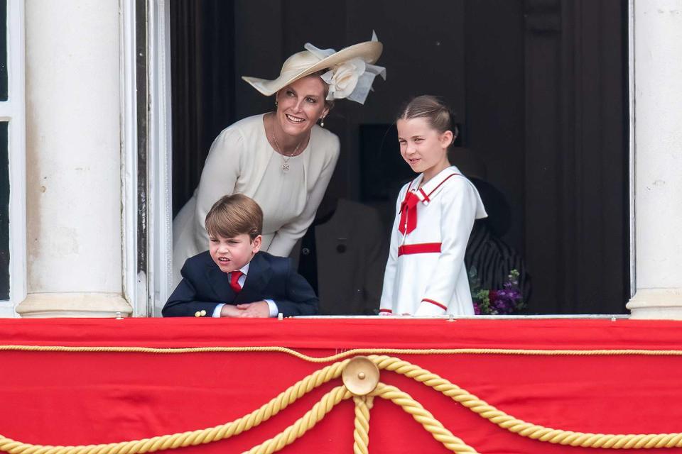
{"label": "young boy in navy jacket and red tie leaning on ledge", "polygon": [[223,196],[206,215],[209,250],[188,258],[163,316],[313,315],[318,297],[291,259],[259,252],[263,211],[243,194]]}

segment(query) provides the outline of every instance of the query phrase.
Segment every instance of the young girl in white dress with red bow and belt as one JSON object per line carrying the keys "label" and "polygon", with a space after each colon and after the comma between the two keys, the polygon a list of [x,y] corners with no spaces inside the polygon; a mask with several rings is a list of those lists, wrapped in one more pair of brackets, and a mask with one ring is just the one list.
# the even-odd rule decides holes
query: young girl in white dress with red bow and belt
{"label": "young girl in white dress with red bow and belt", "polygon": [[379,314],[473,315],[464,253],[474,219],[487,216],[474,185],[448,160],[457,136],[450,109],[418,96],[397,119],[400,153],[419,175],[400,191]]}

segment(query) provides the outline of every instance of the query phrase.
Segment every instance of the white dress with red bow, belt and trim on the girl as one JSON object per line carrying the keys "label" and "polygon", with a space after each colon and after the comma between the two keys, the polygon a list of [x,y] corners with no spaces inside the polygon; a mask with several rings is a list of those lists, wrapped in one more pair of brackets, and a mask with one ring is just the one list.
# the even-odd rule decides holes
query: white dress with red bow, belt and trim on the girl
{"label": "white dress with red bow, belt and trim on the girl", "polygon": [[380,311],[473,315],[464,254],[474,220],[487,217],[485,207],[455,166],[420,188],[422,179],[420,174],[398,196]]}

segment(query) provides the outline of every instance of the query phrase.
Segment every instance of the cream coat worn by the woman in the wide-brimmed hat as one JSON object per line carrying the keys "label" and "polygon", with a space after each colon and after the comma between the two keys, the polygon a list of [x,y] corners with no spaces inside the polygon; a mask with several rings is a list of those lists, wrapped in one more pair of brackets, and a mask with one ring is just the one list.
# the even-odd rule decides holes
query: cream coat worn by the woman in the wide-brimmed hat
{"label": "cream coat worn by the woman in the wide-brimmed hat", "polygon": [[[201,174],[199,187],[173,221],[173,279],[180,281],[180,268],[185,260],[208,249],[204,219],[211,206],[225,194],[241,193],[253,197],[261,205],[265,218],[269,207],[281,207],[281,201],[259,200],[258,189],[263,184],[281,186],[283,172],[267,175],[266,169],[275,154],[265,132],[263,115],[237,121],[224,129],[211,145]],[[301,153],[303,181],[297,194],[301,211],[291,210],[264,232],[263,248],[272,255],[286,257],[293,245],[313,222],[315,211],[325,194],[339,156],[339,139],[333,133],[313,126],[308,146]],[[291,194],[287,194],[291,198]],[[281,211],[281,210],[280,210]]]}

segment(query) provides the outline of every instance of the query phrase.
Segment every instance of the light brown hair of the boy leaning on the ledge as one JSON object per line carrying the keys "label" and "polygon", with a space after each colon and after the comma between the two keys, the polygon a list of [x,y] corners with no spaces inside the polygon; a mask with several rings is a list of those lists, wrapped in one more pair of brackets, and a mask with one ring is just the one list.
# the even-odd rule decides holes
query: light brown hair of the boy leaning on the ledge
{"label": "light brown hair of the boy leaning on the ledge", "polygon": [[234,238],[245,233],[254,240],[263,231],[263,210],[244,194],[222,196],[208,211],[205,226],[213,237]]}

